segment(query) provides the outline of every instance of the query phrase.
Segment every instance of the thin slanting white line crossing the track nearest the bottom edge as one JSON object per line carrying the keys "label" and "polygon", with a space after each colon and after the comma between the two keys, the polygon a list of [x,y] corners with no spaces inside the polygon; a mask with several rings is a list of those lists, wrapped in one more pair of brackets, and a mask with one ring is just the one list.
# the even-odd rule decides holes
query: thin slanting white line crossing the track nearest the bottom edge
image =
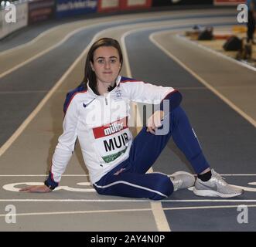
{"label": "thin slanting white line crossing the track nearest the bottom edge", "polygon": [[[203,206],[203,207],[179,207],[179,208],[164,208],[165,211],[170,210],[191,210],[191,209],[213,209],[213,208],[237,208],[241,205],[220,205],[220,206]],[[256,205],[243,205],[247,208],[256,208]],[[152,208],[131,208],[131,209],[112,209],[112,210],[87,210],[87,211],[50,211],[50,212],[34,212],[8,214],[9,216],[40,216],[40,215],[78,215],[78,214],[99,214],[99,213],[118,213],[118,212],[138,212],[151,211]],[[6,214],[0,215],[6,217]]]}

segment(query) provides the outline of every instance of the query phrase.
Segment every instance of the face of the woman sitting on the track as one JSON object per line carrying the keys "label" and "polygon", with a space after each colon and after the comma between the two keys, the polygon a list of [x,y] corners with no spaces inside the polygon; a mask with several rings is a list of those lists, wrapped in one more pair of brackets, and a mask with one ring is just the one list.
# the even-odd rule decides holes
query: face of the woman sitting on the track
{"label": "face of the woman sitting on the track", "polygon": [[97,77],[97,83],[112,84],[121,69],[118,50],[113,46],[101,46],[94,51],[94,63],[90,62]]}

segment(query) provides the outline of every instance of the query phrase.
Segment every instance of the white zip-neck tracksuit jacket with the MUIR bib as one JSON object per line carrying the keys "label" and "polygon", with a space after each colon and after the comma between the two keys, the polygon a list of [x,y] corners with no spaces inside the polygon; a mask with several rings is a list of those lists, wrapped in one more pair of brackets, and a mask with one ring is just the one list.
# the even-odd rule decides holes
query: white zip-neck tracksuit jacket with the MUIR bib
{"label": "white zip-neck tracksuit jacket with the MUIR bib", "polygon": [[63,134],[53,154],[52,178],[60,182],[78,138],[94,184],[128,158],[132,136],[128,129],[129,100],[160,103],[172,87],[155,86],[118,76],[117,86],[104,96],[90,89],[73,90],[66,101]]}

